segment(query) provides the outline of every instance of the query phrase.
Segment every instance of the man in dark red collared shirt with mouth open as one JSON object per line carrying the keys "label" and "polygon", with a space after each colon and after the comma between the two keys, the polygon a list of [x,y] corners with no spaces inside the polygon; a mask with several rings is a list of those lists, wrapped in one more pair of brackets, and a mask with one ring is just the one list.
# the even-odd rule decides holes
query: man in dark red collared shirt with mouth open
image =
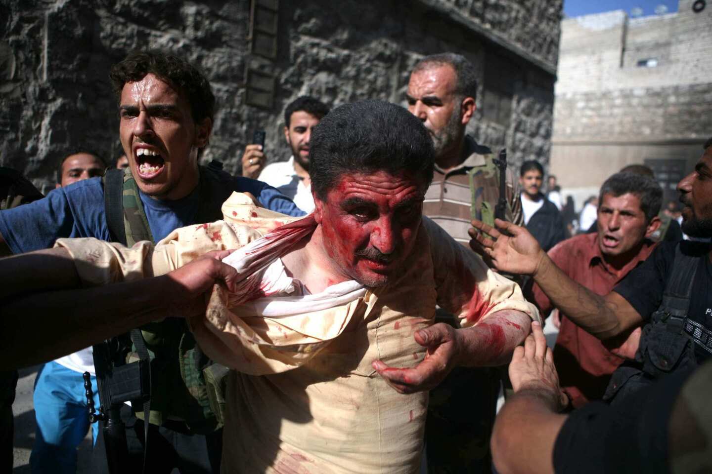
{"label": "man in dark red collared shirt with mouth open", "polygon": [[[660,226],[657,217],[662,190],[651,178],[617,173],[603,183],[599,194],[598,231],[577,235],[550,249],[548,256],[570,279],[594,293],[608,294],[616,284],[644,261],[654,249],[649,237]],[[530,300],[542,316],[554,309],[545,293],[534,284]],[[605,347],[594,335],[561,315],[554,362],[561,387],[576,408],[601,399],[609,379],[624,361],[633,357],[640,329],[628,331],[617,348]]]}

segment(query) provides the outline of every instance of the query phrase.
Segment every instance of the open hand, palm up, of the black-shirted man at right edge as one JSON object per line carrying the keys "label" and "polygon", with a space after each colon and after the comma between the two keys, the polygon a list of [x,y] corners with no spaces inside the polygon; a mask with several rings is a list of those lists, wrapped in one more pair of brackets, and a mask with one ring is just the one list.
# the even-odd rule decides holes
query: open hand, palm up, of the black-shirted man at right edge
{"label": "open hand, palm up, of the black-shirted man at right edge", "polygon": [[[501,219],[496,219],[495,225],[499,230],[479,220],[473,220],[472,228],[468,230],[472,237],[470,247],[499,271],[521,275],[535,274],[546,254],[534,236],[524,227]],[[491,238],[486,237],[483,232]]]}

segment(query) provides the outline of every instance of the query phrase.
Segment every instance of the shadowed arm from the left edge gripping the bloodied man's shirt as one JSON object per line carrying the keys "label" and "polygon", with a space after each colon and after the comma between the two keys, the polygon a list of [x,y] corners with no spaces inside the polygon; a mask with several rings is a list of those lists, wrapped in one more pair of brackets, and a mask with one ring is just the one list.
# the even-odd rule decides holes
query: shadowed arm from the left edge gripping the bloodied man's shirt
{"label": "shadowed arm from the left edge gripping the bloodied man's shirt", "polygon": [[204,293],[236,279],[235,269],[220,262],[229,253],[211,252],[163,276],[87,289],[73,289],[79,280],[66,249],[13,257],[8,268],[25,273],[9,276],[0,266],[0,370],[51,360],[167,316],[205,311]]}

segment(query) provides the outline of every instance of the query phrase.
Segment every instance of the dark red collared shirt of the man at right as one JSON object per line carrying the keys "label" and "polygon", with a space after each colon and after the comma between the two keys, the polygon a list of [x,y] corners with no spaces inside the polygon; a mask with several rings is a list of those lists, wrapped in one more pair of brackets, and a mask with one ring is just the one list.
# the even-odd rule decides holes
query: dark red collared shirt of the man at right
{"label": "dark red collared shirt of the man at right", "polygon": [[[645,241],[642,249],[623,269],[606,264],[598,244],[598,234],[583,234],[555,245],[549,257],[572,280],[596,294],[607,295],[629,271],[643,262],[655,245]],[[554,308],[538,285],[532,288],[534,301],[543,316]],[[590,400],[602,399],[611,374],[624,359],[607,350],[599,339],[561,315],[554,346],[554,363],[561,387],[576,408]]]}

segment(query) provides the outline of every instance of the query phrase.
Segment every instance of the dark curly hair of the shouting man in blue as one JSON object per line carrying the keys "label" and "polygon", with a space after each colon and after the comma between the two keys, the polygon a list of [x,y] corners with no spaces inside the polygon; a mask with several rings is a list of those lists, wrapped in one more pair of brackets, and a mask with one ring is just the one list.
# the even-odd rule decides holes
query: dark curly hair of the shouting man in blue
{"label": "dark curly hair of the shouting man in blue", "polygon": [[159,50],[132,51],[112,66],[109,77],[117,102],[127,82],[140,81],[149,73],[185,94],[193,122],[201,124],[206,118],[214,121],[215,96],[207,78],[187,61]]}

